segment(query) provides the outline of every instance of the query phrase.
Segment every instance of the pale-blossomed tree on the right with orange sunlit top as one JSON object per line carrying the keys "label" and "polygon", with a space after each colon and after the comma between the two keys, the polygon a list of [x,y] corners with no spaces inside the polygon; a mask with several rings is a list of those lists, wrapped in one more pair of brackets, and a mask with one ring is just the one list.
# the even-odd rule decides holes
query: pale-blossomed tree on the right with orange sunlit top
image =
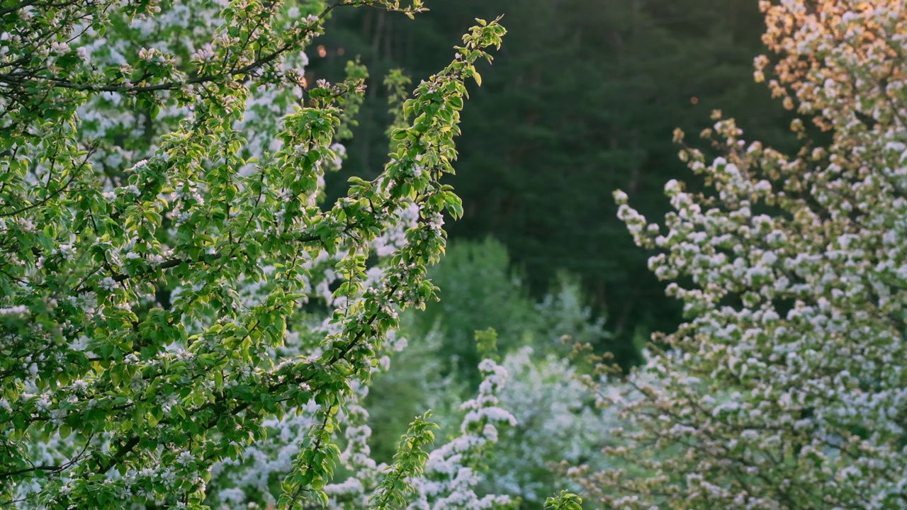
{"label": "pale-blossomed tree on the right with orange sunlit top", "polygon": [[907,508],[907,9],[762,1],[756,79],[824,131],[787,156],[719,121],[651,223],[619,215],[687,321],[613,396],[639,466],[574,471],[608,508]]}

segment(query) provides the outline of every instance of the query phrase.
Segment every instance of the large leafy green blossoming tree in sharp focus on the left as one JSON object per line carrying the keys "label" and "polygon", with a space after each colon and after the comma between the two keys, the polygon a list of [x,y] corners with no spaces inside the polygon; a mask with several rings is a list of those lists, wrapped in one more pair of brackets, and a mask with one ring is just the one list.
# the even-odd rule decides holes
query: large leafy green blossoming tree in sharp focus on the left
{"label": "large leafy green blossoming tree in sharp focus on the left", "polygon": [[[307,83],[304,50],[352,6],[424,10],[0,6],[0,507],[505,503],[465,490],[476,448],[512,419],[493,362],[463,438],[431,458],[417,418],[392,466],[369,463],[356,405],[397,310],[433,296],[442,213],[462,212],[439,180],[464,80],[504,29],[464,35],[395,104],[385,171],[324,207],[366,71]],[[332,483],[335,466],[353,476]]]}

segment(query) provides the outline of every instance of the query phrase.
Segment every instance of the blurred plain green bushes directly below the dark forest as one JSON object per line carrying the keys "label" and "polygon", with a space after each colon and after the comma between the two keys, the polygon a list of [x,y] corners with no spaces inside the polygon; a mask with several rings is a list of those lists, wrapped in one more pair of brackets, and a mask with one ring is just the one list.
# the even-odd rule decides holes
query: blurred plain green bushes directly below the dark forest
{"label": "blurred plain green bushes directly below the dark forest", "polygon": [[445,374],[455,370],[464,381],[478,380],[475,367],[487,355],[479,355],[476,339],[483,334],[476,332],[489,328],[497,333],[497,349],[502,355],[525,345],[540,354],[565,354],[565,336],[599,351],[618,347],[605,332],[604,319],[596,317],[585,302],[579,280],[561,273],[536,302],[498,240],[454,242],[429,277],[442,289],[440,300],[427,303],[423,313],[413,314],[405,333],[424,338],[437,330]]}

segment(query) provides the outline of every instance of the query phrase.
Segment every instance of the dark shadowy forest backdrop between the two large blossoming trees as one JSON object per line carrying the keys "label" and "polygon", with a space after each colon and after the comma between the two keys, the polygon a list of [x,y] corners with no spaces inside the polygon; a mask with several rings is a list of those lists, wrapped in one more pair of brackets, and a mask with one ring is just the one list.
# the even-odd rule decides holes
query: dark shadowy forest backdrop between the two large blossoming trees
{"label": "dark shadowy forest backdrop between the two large blossoming trees", "polygon": [[[451,182],[465,205],[450,233],[502,240],[535,296],[557,270],[580,275],[616,333],[600,348],[637,361],[634,335],[671,329],[679,309],[608,193],[627,190],[641,212],[664,214],[661,184],[684,171],[671,132],[707,125],[713,109],[733,110],[747,132],[790,146],[789,115],[752,80],[753,57],[763,52],[757,3],[465,0],[430,8],[412,24],[379,11],[337,15],[336,30],[319,39],[326,56],[313,57],[310,69],[333,75],[361,54],[379,69],[424,75],[448,58],[450,38],[474,13],[505,13],[508,44],[481,69],[475,107],[463,114]],[[383,120],[378,106],[366,106],[348,172],[375,171]]]}

